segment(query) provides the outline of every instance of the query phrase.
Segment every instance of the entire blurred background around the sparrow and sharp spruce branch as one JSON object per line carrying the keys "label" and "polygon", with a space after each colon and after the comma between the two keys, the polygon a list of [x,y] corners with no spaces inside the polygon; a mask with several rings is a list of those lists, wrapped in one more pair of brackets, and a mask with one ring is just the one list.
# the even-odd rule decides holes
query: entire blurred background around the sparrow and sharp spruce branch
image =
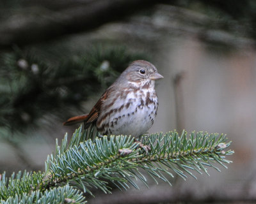
{"label": "entire blurred background around the sparrow and sharp spruce branch", "polygon": [[0,21],[0,173],[44,171],[62,122],[145,59],[164,76],[150,133],[225,133],[233,163],[89,203],[255,203],[255,1],[1,0]]}

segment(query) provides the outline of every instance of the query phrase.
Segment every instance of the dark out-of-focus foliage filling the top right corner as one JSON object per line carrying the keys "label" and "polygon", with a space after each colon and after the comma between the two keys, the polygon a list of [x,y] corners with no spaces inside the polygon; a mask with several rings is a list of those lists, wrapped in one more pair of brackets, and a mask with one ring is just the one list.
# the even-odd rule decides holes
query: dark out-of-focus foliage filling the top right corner
{"label": "dark out-of-focus foliage filling the top right corner", "polygon": [[[218,20],[223,30],[256,39],[256,1],[178,0],[173,4]],[[205,29],[212,26],[214,24],[209,24]]]}

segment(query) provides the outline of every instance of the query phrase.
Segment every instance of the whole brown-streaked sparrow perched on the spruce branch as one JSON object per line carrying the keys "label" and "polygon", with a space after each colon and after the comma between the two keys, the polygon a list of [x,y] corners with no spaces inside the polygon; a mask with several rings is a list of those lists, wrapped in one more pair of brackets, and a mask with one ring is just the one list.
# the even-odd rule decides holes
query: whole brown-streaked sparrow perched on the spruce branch
{"label": "whole brown-streaked sparrow perched on the spruce branch", "polygon": [[84,129],[95,124],[101,135],[138,137],[152,126],[158,100],[155,80],[163,78],[150,62],[137,60],[117,78],[90,113],[72,117],[64,125],[84,122]]}

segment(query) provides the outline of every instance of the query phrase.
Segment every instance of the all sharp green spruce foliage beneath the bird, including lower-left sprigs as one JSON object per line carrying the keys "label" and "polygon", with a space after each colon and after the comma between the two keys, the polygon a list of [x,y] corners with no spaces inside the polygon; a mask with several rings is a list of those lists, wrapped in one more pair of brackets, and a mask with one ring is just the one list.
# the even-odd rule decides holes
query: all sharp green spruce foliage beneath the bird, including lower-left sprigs
{"label": "all sharp green spruce foliage beneath the bird, including lower-left sprigs", "polygon": [[156,183],[161,179],[172,185],[170,177],[175,175],[196,179],[195,172],[209,175],[207,168],[227,168],[231,161],[225,157],[234,153],[227,150],[231,142],[218,133],[183,131],[179,136],[171,131],[141,136],[138,140],[150,152],[138,148],[131,136],[98,135],[93,128],[83,131],[80,127],[70,142],[67,134],[60,145],[56,141],[56,153],[47,157],[44,173],[0,175],[1,203],[84,203],[83,193],[92,194],[93,188],[104,193],[111,193],[111,184],[139,189],[138,180],[148,187],[145,173]]}

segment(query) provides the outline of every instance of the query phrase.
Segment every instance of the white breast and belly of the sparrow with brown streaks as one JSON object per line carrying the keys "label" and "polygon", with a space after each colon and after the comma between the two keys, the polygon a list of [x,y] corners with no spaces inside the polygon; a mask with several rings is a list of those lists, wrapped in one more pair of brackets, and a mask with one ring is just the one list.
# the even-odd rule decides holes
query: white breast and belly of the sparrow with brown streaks
{"label": "white breast and belly of the sparrow with brown streaks", "polygon": [[138,137],[152,126],[157,105],[154,87],[123,89],[102,105],[97,129],[102,135]]}

